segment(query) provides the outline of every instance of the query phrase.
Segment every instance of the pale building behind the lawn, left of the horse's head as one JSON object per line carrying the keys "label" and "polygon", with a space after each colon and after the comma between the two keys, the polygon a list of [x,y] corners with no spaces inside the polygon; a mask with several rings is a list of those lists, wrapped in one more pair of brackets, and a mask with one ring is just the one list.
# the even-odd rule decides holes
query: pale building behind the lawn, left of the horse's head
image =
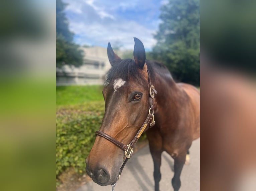
{"label": "pale building behind the lawn, left of the horse's head", "polygon": [[76,68],[65,65],[56,68],[56,86],[103,84],[111,65],[107,56],[107,48],[89,47],[84,50],[84,64]]}

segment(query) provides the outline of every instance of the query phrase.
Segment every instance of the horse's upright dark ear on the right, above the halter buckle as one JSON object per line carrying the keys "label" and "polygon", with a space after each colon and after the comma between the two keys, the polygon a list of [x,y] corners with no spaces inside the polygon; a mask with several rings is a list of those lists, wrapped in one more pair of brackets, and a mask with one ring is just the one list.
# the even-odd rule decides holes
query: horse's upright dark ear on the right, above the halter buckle
{"label": "horse's upright dark ear on the right, above the halter buckle", "polygon": [[141,69],[143,69],[145,61],[146,61],[145,48],[139,39],[137,39],[135,37],[133,39],[134,39],[134,43],[135,43],[134,49],[133,49],[133,57],[134,57],[136,65],[139,66]]}

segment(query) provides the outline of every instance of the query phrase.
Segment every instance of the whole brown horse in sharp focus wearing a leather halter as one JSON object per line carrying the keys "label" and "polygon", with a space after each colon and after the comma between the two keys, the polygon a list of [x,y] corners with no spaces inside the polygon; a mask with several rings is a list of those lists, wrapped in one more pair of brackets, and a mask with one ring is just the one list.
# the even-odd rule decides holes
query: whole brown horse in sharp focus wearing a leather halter
{"label": "whole brown horse in sharp focus wearing a leather halter", "polygon": [[[129,142],[146,131],[154,162],[155,190],[159,190],[161,179],[161,153],[166,151],[174,159],[171,182],[177,191],[188,149],[200,137],[200,93],[191,85],[175,83],[165,66],[146,60],[142,42],[137,38],[134,41],[134,60],[120,59],[108,45],[112,67],[103,89],[105,115],[100,130],[104,133],[97,131],[100,136],[86,159],[86,171],[99,185],[114,185],[123,162],[130,157],[122,150],[128,152]],[[151,96],[152,85],[157,91],[155,97]],[[145,128],[147,119],[151,123],[155,120],[155,125]],[[128,145],[122,148],[116,142]]]}

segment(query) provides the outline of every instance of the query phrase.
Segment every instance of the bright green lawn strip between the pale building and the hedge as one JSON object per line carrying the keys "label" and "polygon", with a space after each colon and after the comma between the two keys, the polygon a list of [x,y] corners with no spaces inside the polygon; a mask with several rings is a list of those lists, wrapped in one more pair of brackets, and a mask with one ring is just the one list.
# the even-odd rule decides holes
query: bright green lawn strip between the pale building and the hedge
{"label": "bright green lawn strip between the pale building and the hedge", "polygon": [[56,105],[75,105],[89,101],[104,101],[103,87],[93,86],[56,86]]}

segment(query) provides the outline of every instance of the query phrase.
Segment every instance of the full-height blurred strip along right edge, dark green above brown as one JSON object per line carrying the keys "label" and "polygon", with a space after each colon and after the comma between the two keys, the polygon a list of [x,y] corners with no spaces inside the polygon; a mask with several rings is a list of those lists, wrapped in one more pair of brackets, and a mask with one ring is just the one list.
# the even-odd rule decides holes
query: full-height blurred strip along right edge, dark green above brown
{"label": "full-height blurred strip along right edge, dark green above brown", "polygon": [[201,190],[256,190],[255,1],[201,1]]}

